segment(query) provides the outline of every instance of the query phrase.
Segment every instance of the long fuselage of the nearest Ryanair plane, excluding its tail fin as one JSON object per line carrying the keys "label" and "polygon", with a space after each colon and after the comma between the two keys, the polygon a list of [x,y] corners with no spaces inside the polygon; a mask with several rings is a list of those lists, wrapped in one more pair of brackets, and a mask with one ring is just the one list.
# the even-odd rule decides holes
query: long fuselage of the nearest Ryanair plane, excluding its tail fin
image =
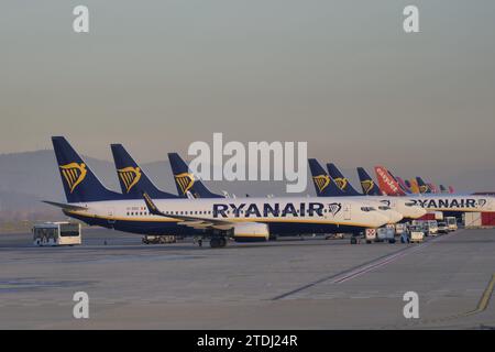
{"label": "long fuselage of the nearest Ryanair plane, excluding its tail fin", "polygon": [[[144,200],[139,199],[73,204],[87,209],[65,212],[90,224],[107,223],[117,230],[138,233],[162,230],[184,233],[186,227],[194,228],[195,221],[201,220],[222,221],[224,227],[232,228],[238,223],[266,223],[271,232],[279,234],[378,228],[389,222],[383,213],[349,198],[156,199],[154,204],[165,216],[151,215]],[[191,219],[178,219],[174,215]],[[152,230],[146,232],[146,229]]]}

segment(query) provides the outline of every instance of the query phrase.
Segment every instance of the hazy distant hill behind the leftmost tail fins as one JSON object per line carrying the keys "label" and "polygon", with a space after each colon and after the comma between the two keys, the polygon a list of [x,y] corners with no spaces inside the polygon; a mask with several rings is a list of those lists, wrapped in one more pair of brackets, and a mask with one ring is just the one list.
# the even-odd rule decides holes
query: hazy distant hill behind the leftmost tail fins
{"label": "hazy distant hill behind the leftmost tail fins", "polygon": [[[114,165],[111,162],[82,156],[100,180],[110,189],[120,191]],[[43,199],[66,201],[55,154],[51,150],[25,153],[0,154],[0,220],[8,218],[32,218],[36,213],[45,217],[57,209],[41,202]],[[176,194],[168,161],[142,165],[155,185]],[[255,196],[284,194],[285,183],[206,183],[211,190],[227,190],[238,196],[246,193]]]}

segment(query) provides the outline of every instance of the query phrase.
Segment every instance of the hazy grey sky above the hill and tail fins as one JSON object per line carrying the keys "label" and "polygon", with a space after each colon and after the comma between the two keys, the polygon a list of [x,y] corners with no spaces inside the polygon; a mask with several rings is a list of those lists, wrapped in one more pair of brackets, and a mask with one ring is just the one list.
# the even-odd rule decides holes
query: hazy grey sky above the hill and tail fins
{"label": "hazy grey sky above the hill and tail fins", "polygon": [[493,0],[9,0],[0,47],[0,153],[63,134],[150,162],[223,132],[343,167],[495,167]]}

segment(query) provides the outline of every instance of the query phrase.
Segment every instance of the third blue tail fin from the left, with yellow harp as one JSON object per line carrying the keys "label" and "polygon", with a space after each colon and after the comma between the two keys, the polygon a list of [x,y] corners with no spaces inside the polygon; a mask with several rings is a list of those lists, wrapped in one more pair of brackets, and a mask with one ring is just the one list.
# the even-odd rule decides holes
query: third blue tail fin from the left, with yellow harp
{"label": "third blue tail fin from the left, with yellow harp", "polygon": [[196,179],[189,172],[189,167],[177,153],[168,153],[172,172],[174,174],[175,185],[179,197],[187,198],[187,191],[190,191],[195,198],[226,198],[211,193],[201,180]]}

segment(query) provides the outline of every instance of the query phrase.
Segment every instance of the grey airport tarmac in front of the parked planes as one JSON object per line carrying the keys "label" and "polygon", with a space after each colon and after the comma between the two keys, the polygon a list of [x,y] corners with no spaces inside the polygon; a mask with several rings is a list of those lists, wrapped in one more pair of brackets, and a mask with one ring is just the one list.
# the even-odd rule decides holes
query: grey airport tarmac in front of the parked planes
{"label": "grey airport tarmac in front of the parked planes", "polygon": [[[73,248],[0,234],[0,328],[490,329],[494,274],[494,229],[408,245],[293,239],[215,250],[100,229]],[[73,317],[76,292],[89,295],[89,319]],[[419,319],[403,315],[406,292],[419,296]]]}

